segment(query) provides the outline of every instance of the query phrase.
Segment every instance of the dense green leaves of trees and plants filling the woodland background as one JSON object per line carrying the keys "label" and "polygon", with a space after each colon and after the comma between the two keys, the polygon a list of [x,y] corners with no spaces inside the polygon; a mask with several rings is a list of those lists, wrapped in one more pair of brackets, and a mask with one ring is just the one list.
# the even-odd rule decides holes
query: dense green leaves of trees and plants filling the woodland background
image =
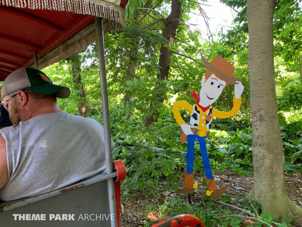
{"label": "dense green leaves of trees and plants filling the woodland background", "polygon": [[[174,43],[169,47],[173,51],[170,57],[169,77],[163,80],[158,77],[159,49],[161,45],[167,43],[162,37],[164,20],[159,19],[167,18],[171,1],[130,0],[126,11],[126,28],[105,34],[111,135],[116,144],[112,155],[114,160],[122,159],[127,167],[124,200],[131,196],[132,190],[142,190],[146,195],[156,193],[160,179],[167,181],[162,186],[163,190],[176,190],[179,187],[178,179],[186,165],[186,143],[179,143],[179,126],[173,117],[172,104],[175,100],[187,100],[191,104],[196,102],[191,97],[191,92],[194,90],[199,92],[200,81],[206,71],[200,63],[200,52],[203,52],[209,60],[219,54],[231,61],[236,67],[234,76],[239,77],[246,87],[242,94],[242,107],[239,113],[229,119],[213,121],[211,133],[206,139],[211,168],[215,173],[253,174],[246,1],[221,0],[221,2],[236,9],[237,15],[233,27],[227,34],[223,34],[221,29],[216,34],[218,40],[214,41],[209,32],[209,36],[205,37],[198,29],[186,25],[190,12],[198,12],[197,10],[203,14],[206,21],[202,5],[196,4],[195,1],[181,0],[180,23]],[[288,174],[301,175],[300,2],[278,1],[274,17],[274,38],[277,102],[285,153],[284,171]],[[81,83],[85,87],[90,116],[102,121],[96,45],[93,44],[83,50],[80,56]],[[56,83],[76,87],[68,62],[61,61],[44,71]],[[233,106],[233,95],[234,86],[228,85],[214,107],[229,111]],[[60,108],[72,114],[77,113],[77,104],[82,101],[76,89],[72,90],[69,98],[58,100]],[[155,112],[159,113],[156,122],[146,126],[146,118]],[[185,121],[189,120],[188,112],[181,110],[181,114]],[[194,170],[202,174],[203,167],[197,142],[194,150],[196,158]],[[205,204],[215,207],[210,200]],[[191,207],[181,205],[181,201],[173,200],[169,204],[165,203],[163,207],[173,207],[173,214],[191,209],[191,213],[198,214],[208,224],[219,222],[221,226],[239,226],[241,223],[239,219],[228,221],[211,219],[215,208],[208,213],[201,212],[202,206],[199,204]],[[246,209],[250,207],[246,206]],[[215,223],[209,226],[216,226]]]}

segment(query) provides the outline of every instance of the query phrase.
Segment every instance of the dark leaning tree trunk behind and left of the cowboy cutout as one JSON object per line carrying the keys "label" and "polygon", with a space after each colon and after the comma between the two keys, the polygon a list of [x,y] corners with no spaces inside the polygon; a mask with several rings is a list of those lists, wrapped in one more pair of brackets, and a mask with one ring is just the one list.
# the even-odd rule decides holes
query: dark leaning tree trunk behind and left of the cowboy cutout
{"label": "dark leaning tree trunk behind and left of the cowboy cutout", "polygon": [[[168,46],[165,44],[162,44],[160,47],[160,54],[159,54],[159,74],[157,75],[157,78],[159,80],[168,79],[169,76],[169,69],[170,69],[170,57],[172,56],[172,50],[170,50],[170,46],[173,45],[175,35],[176,35],[176,29],[178,28],[178,25],[180,23],[179,19],[182,12],[182,6],[179,0],[172,0],[172,9],[170,12],[170,15],[166,18],[166,22],[164,24],[164,31],[162,32],[162,36],[167,40]],[[164,85],[162,85],[164,86]],[[159,102],[164,101],[164,94],[158,96]],[[152,107],[152,104],[150,104],[150,107]],[[155,111],[153,115],[150,117],[146,117],[145,126],[150,125],[151,123],[155,122],[157,120],[158,111]]]}

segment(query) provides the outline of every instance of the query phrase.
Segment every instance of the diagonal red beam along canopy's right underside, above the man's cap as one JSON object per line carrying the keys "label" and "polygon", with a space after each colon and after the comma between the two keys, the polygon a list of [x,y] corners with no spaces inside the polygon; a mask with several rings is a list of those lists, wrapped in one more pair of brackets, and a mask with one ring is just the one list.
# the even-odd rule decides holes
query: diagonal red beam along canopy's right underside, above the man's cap
{"label": "diagonal red beam along canopy's right underside, above the man's cap", "polygon": [[[60,35],[54,38],[46,47],[43,47],[40,51],[38,51],[38,58],[43,57],[48,52],[52,51],[54,48],[71,38],[73,35],[77,34],[86,26],[90,25],[94,22],[94,17],[90,15],[83,15],[78,18],[75,22],[72,23],[68,28],[66,28]],[[25,63],[22,67],[28,67],[34,63],[34,57],[32,57],[27,63]]]}

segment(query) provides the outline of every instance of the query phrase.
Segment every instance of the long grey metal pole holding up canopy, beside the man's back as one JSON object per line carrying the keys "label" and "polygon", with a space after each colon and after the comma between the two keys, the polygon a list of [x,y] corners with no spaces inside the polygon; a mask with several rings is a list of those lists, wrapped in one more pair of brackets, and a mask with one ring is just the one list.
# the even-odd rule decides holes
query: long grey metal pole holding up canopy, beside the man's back
{"label": "long grey metal pole holding up canopy, beside the man's back", "polygon": [[[100,80],[101,80],[106,173],[112,173],[113,169],[112,169],[112,156],[111,156],[109,103],[108,103],[108,90],[107,90],[107,78],[106,78],[106,67],[105,67],[105,51],[104,51],[104,35],[103,35],[102,18],[95,17],[95,31],[96,31],[96,41],[98,47],[98,66],[99,66]],[[108,184],[110,214],[114,214],[114,220],[111,220],[111,227],[117,227],[113,178],[108,179],[107,184]]]}

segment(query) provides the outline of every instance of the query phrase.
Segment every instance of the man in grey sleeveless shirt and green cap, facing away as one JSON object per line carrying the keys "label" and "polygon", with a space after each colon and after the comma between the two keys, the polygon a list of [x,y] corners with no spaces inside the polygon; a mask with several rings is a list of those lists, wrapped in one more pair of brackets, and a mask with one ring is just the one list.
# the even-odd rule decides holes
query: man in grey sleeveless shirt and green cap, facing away
{"label": "man in grey sleeveless shirt and green cap, facing away", "polygon": [[8,75],[1,94],[14,124],[0,130],[1,200],[50,192],[105,169],[101,123],[59,109],[56,98],[68,97],[69,88],[21,68]]}

